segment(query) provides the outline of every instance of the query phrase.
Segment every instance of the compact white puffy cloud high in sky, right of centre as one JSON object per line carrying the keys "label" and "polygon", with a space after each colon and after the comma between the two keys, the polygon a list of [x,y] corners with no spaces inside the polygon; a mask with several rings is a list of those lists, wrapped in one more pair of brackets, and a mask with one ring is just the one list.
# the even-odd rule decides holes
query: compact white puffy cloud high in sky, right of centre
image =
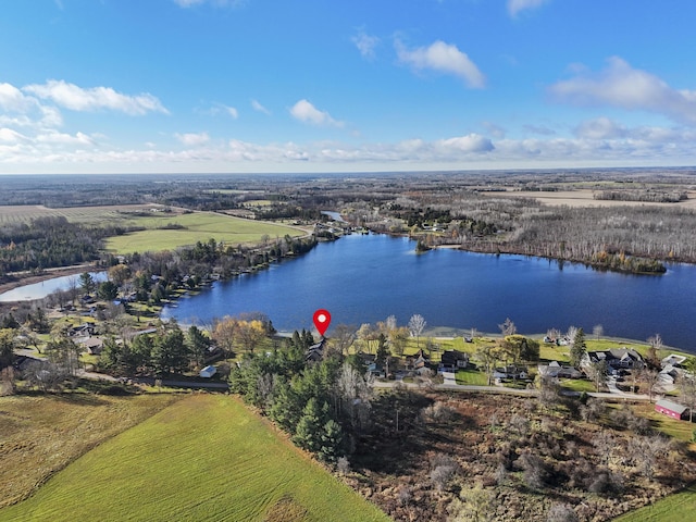
{"label": "compact white puffy cloud high in sky, right of centre", "polygon": [[437,40],[430,47],[408,50],[400,40],[396,40],[395,48],[399,61],[410,65],[414,71],[433,70],[452,74],[472,88],[480,89],[486,84],[486,78],[476,64],[457,46]]}

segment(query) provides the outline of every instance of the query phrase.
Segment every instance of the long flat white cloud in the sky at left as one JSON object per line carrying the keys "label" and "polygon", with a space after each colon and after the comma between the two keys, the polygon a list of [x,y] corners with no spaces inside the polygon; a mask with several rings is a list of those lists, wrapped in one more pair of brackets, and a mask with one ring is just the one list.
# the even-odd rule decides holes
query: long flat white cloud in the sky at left
{"label": "long flat white cloud in the sky at left", "polygon": [[22,90],[73,111],[109,109],[130,115],[142,115],[148,112],[169,114],[160,100],[150,94],[127,96],[116,92],[111,87],[84,89],[75,84],[50,79],[44,85],[27,85]]}

